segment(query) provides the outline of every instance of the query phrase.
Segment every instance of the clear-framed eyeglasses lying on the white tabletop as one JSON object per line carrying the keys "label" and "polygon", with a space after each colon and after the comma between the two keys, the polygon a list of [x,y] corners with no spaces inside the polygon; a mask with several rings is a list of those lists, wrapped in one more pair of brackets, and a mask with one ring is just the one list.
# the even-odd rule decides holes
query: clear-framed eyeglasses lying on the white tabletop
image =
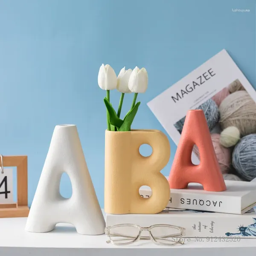
{"label": "clear-framed eyeglasses lying on the white tabletop", "polygon": [[[149,236],[141,236],[142,231],[148,231]],[[140,227],[134,224],[119,224],[105,228],[105,234],[109,237],[107,243],[115,245],[128,245],[140,239],[151,240],[156,244],[175,245],[184,244],[181,241],[185,236],[186,230],[183,227],[177,227],[167,224],[157,224],[150,227]]]}

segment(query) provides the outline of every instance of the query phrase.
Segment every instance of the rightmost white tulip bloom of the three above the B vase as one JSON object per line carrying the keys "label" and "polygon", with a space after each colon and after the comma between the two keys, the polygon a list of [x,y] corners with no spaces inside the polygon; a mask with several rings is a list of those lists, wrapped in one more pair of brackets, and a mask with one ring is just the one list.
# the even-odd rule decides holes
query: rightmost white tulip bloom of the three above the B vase
{"label": "rightmost white tulip bloom of the three above the B vase", "polygon": [[128,82],[128,88],[133,93],[145,93],[148,88],[148,73],[144,67],[142,69],[134,68]]}

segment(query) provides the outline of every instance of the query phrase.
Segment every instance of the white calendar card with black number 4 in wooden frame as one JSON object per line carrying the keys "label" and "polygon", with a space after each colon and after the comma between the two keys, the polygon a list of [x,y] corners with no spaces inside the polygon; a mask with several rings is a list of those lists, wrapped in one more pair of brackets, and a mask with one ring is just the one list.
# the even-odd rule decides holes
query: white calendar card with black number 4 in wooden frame
{"label": "white calendar card with black number 4 in wooden frame", "polygon": [[12,169],[4,168],[0,172],[0,204],[13,203],[13,177]]}

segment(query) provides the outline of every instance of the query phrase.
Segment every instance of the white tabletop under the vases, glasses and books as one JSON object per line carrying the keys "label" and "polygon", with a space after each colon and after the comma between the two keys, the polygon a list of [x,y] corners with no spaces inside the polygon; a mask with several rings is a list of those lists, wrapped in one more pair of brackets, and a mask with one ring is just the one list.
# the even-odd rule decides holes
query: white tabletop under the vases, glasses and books
{"label": "white tabletop under the vases, glasses and books", "polygon": [[172,256],[256,256],[256,239],[241,239],[239,242],[207,242],[206,239],[200,242],[191,239],[184,245],[175,247],[139,241],[132,246],[119,247],[107,244],[105,235],[79,235],[69,224],[58,224],[55,230],[49,233],[28,233],[24,230],[25,224],[26,218],[0,219],[0,256],[84,256],[103,253],[105,256],[141,256],[141,253],[146,253],[147,256],[159,256],[159,253],[172,253]]}

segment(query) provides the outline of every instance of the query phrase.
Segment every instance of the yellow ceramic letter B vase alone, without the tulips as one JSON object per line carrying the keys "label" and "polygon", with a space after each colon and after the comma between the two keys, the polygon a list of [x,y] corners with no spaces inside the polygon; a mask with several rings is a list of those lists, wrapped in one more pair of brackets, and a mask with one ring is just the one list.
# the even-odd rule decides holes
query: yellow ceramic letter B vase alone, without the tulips
{"label": "yellow ceramic letter B vase alone, without the tulips", "polygon": [[[151,145],[150,156],[140,154],[142,144]],[[161,131],[106,131],[105,212],[161,212],[170,199],[169,183],[160,173],[169,157],[169,140]],[[139,189],[143,185],[151,187],[150,198],[140,196]]]}

